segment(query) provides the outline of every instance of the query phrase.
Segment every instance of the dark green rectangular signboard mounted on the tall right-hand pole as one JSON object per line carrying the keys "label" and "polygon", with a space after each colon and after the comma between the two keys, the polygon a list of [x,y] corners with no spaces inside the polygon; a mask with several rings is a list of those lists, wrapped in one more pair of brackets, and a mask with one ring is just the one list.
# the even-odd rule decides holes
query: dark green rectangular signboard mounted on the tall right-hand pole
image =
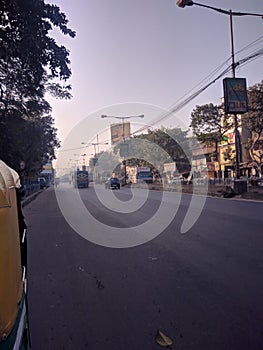
{"label": "dark green rectangular signboard mounted on the tall right-hand pole", "polygon": [[247,87],[245,78],[225,78],[225,114],[242,114],[248,111]]}

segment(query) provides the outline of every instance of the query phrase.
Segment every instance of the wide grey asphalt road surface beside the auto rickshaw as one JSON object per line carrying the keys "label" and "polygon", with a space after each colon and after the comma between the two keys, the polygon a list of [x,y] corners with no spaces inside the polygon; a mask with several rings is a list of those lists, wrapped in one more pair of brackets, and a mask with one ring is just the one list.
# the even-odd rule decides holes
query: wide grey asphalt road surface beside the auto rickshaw
{"label": "wide grey asphalt road surface beside the auto rickshaw", "polygon": [[[150,191],[136,215],[114,214],[92,187],[79,192],[93,216],[119,228],[140,224],[163,200]],[[131,198],[129,189],[114,194]],[[157,330],[174,350],[262,350],[263,203],[207,198],[181,234],[190,199],[183,195],[156,238],[122,249],[76,233],[53,188],[27,205],[33,350],[161,349]]]}

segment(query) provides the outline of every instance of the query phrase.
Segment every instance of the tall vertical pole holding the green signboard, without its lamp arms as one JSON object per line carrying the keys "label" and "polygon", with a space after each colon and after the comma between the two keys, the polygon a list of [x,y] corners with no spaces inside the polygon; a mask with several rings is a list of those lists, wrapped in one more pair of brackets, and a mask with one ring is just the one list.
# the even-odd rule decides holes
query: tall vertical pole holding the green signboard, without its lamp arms
{"label": "tall vertical pole holding the green signboard, without its lamp arms", "polygon": [[[234,50],[234,35],[233,35],[233,16],[232,10],[229,10],[229,19],[230,19],[230,43],[231,43],[231,57],[232,57],[232,75],[233,78],[236,77],[236,64],[235,64],[235,50]],[[239,154],[240,154],[240,144],[239,144],[239,131],[238,131],[238,119],[237,115],[234,115],[234,125],[235,125],[235,150],[236,150],[236,178],[240,178],[240,169],[239,169]]]}

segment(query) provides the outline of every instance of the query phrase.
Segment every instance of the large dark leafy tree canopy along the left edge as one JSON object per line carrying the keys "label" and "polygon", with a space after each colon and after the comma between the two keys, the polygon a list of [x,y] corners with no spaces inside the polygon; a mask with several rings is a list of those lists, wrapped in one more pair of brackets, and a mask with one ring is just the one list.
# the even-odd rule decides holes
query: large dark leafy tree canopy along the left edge
{"label": "large dark leafy tree canopy along the left edge", "polygon": [[27,160],[36,171],[59,146],[49,93],[71,98],[69,51],[49,35],[75,36],[59,7],[43,0],[0,5],[0,157],[10,166]]}

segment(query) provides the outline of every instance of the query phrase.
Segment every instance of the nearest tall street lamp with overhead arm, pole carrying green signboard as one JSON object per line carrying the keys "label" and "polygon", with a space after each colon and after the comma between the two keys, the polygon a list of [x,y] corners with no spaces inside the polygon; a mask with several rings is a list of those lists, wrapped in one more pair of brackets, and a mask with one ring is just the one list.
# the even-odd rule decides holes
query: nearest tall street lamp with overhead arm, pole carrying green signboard
{"label": "nearest tall street lamp with overhead arm, pole carrying green signboard", "polygon": [[[222,13],[224,15],[229,16],[230,21],[230,47],[231,47],[231,59],[232,59],[232,76],[235,78],[236,76],[236,63],[235,63],[235,51],[234,51],[234,35],[233,35],[233,16],[241,17],[241,16],[256,16],[263,18],[262,14],[259,13],[249,13],[249,12],[235,12],[232,10],[222,10],[217,7],[200,4],[191,0],[177,0],[176,2],[178,7],[184,8],[185,6],[200,6],[205,7],[210,10],[214,10],[216,12]],[[236,177],[240,178],[240,168],[239,168],[239,153],[240,153],[240,142],[239,142],[239,132],[238,132],[238,120],[237,114],[234,115],[234,125],[235,125],[235,150],[236,150]]]}

